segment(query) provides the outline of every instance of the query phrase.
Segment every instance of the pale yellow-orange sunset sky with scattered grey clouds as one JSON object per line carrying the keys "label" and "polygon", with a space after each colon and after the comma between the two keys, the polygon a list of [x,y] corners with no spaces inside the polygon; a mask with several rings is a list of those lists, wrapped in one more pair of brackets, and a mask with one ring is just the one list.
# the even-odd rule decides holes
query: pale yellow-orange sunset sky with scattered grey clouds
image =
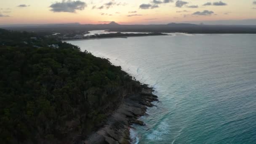
{"label": "pale yellow-orange sunset sky with scattered grey clouds", "polygon": [[256,24],[256,0],[0,0],[0,24]]}

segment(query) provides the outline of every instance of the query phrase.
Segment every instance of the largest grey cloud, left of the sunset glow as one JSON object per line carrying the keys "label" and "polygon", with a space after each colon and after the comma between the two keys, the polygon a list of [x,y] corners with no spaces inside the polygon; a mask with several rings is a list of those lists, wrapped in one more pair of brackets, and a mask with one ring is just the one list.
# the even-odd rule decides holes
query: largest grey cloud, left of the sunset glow
{"label": "largest grey cloud, left of the sunset glow", "polygon": [[56,2],[50,5],[51,11],[53,12],[69,12],[76,13],[76,10],[84,10],[87,4],[80,0],[62,0],[61,2]]}

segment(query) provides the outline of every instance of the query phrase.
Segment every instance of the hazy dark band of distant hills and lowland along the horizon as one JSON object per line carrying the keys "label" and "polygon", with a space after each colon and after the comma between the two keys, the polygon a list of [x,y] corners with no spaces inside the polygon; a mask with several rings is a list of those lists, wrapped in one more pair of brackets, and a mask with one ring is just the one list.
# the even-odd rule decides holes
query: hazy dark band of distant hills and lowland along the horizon
{"label": "hazy dark band of distant hills and lowland along the horizon", "polygon": [[187,33],[256,33],[256,25],[204,25],[189,23],[169,24],[23,24],[0,25],[0,28],[29,32],[74,32],[107,29],[116,32],[187,32]]}

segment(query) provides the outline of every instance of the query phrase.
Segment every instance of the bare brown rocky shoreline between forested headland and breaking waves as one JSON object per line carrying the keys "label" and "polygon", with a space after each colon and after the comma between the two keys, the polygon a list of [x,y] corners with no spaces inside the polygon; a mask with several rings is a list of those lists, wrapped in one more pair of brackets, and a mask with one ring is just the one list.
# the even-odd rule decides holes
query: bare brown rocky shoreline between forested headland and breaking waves
{"label": "bare brown rocky shoreline between forested headland and breaking waves", "polygon": [[141,85],[139,93],[124,96],[120,106],[107,118],[103,127],[88,136],[82,143],[130,144],[131,125],[145,125],[138,118],[146,114],[147,107],[155,106],[151,103],[152,101],[158,101],[153,91],[147,85]]}

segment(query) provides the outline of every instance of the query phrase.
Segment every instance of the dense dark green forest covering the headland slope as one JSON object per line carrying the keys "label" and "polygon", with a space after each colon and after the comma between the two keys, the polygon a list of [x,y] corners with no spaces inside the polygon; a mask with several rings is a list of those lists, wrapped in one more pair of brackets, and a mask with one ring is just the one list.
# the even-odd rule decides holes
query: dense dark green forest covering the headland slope
{"label": "dense dark green forest covering the headland slope", "polygon": [[125,93],[140,88],[107,59],[28,32],[0,29],[0,69],[1,144],[57,144],[87,136]]}

